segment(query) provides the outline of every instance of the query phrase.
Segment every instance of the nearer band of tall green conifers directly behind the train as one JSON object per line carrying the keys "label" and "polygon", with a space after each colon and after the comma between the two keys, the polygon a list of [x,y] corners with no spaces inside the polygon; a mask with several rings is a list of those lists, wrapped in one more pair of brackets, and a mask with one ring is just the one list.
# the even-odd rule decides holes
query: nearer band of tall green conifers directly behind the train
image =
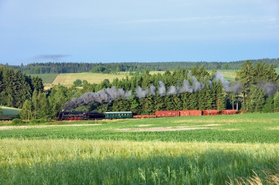
{"label": "nearer band of tall green conifers directly behind the train", "polygon": [[227,81],[216,70],[193,65],[190,71],[178,67],[163,74],[137,74],[101,83],[82,81],[77,86],[54,86],[44,90],[38,77],[0,67],[0,102],[22,108],[23,120],[52,120],[62,111],[132,111],[138,115],[156,110],[237,109],[247,113],[279,111],[278,74],[271,63],[246,61]]}

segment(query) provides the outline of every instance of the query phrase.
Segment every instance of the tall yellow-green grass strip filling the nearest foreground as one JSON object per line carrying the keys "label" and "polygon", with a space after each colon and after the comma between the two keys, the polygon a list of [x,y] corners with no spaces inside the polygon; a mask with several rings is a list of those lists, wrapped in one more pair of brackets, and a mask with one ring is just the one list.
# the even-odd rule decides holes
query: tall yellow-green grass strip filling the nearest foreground
{"label": "tall yellow-green grass strip filling the nearest foreground", "polygon": [[260,178],[279,144],[0,140],[0,184],[225,184]]}

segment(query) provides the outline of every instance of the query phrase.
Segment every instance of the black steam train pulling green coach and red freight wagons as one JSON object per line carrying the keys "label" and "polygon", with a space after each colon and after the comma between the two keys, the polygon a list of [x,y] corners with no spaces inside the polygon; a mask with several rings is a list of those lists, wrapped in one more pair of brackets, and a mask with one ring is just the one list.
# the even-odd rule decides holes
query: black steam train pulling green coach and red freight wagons
{"label": "black steam train pulling green coach and red freight wagons", "polygon": [[162,118],[162,117],[179,117],[179,116],[197,116],[197,115],[229,115],[237,114],[237,110],[182,110],[182,111],[156,111],[155,115],[136,115],[131,111],[105,112],[98,111],[61,111],[57,113],[57,121],[79,121],[79,120],[103,120],[103,119],[123,119],[123,118]]}

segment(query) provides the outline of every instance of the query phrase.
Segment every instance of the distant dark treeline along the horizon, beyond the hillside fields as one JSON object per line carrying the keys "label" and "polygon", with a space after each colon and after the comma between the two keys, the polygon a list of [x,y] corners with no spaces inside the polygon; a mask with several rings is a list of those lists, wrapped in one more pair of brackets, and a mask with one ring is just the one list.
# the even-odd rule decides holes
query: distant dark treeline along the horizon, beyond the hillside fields
{"label": "distant dark treeline along the horizon, beyond the hillside fields", "polygon": [[[279,58],[263,58],[257,60],[250,60],[255,63],[266,62],[266,65],[274,65],[279,67]],[[26,74],[59,74],[59,73],[77,73],[77,72],[144,72],[146,69],[151,71],[173,71],[179,67],[190,70],[193,65],[197,67],[204,66],[205,70],[240,70],[241,65],[245,61],[225,62],[162,62],[162,63],[30,63],[28,65],[4,65],[13,70],[20,70]]]}

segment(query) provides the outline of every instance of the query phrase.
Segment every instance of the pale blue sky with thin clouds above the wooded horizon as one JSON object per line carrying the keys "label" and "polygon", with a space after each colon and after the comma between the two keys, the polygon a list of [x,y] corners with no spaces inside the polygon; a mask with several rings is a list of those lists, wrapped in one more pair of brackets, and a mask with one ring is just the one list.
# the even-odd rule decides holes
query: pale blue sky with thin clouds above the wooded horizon
{"label": "pale blue sky with thin clouds above the wooded horizon", "polygon": [[0,0],[0,63],[279,58],[278,0]]}

